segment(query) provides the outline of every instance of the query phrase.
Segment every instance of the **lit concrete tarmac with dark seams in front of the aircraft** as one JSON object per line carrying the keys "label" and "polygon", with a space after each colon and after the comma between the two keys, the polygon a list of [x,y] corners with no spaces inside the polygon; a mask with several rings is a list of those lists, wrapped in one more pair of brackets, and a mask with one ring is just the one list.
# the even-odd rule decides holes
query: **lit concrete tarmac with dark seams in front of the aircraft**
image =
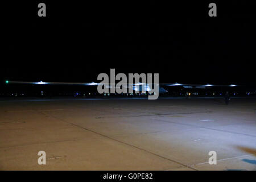
{"label": "lit concrete tarmac with dark seams in front of the aircraft", "polygon": [[2,100],[0,169],[256,170],[256,99]]}

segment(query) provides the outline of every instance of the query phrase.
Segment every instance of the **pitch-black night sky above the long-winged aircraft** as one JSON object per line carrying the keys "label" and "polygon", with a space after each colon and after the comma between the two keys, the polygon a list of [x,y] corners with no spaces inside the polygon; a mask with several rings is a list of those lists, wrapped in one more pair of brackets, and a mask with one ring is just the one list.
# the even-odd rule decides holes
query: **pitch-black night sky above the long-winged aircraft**
{"label": "pitch-black night sky above the long-winged aircraft", "polygon": [[255,83],[253,1],[82,2],[3,6],[1,80],[97,81],[115,68],[159,73],[160,82]]}

